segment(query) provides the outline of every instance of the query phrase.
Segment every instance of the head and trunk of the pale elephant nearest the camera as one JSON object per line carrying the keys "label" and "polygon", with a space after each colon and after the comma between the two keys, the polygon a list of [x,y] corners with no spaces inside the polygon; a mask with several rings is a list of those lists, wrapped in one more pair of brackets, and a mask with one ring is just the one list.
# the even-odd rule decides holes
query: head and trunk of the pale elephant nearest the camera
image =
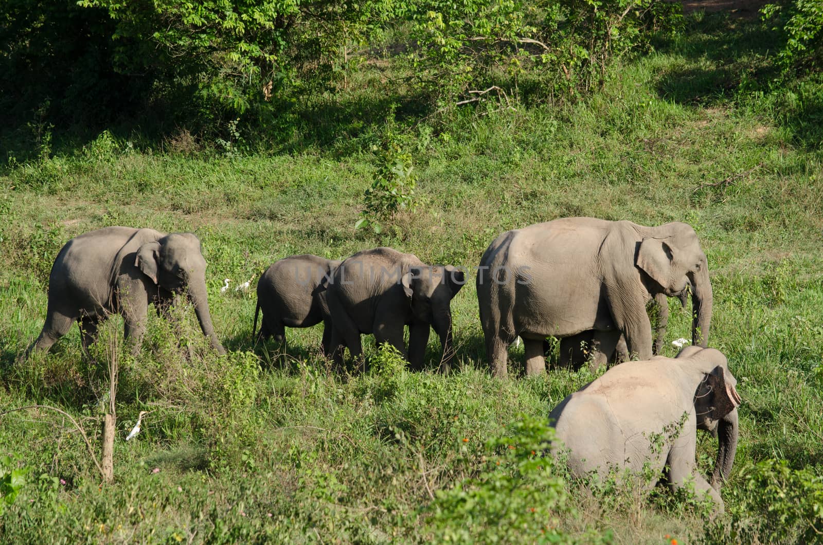
{"label": "head and trunk of the pale elephant nearest the camera", "polygon": [[713,348],[686,347],[677,357],[692,358],[703,372],[703,379],[695,390],[695,415],[698,428],[718,433],[718,458],[711,485],[719,490],[720,484],[732,473],[737,452],[737,406],[741,402],[735,388],[737,380],[728,370],[726,356]]}

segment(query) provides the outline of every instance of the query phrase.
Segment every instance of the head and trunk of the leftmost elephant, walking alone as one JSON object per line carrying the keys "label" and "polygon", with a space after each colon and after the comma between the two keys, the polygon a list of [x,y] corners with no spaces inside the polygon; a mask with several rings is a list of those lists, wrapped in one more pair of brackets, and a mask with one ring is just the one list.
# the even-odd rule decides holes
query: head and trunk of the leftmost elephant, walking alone
{"label": "head and trunk of the leftmost elephant, walking alone", "polygon": [[146,242],[137,249],[134,265],[151,282],[166,291],[187,291],[203,334],[209,338],[217,352],[226,353],[217,340],[212,315],[208,310],[206,260],[203,259],[197,236],[191,233],[172,233],[160,240]]}

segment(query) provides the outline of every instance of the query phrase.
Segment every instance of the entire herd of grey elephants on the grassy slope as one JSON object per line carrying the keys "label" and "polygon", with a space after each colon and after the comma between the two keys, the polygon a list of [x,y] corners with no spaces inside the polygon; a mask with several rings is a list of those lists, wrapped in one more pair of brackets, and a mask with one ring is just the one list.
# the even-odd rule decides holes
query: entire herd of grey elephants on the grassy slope
{"label": "entire herd of grey elephants on the grassy slope", "polygon": [[[192,234],[106,227],[77,236],[54,261],[45,324],[26,354],[48,350],[76,321],[86,352],[109,314],[123,315],[125,337],[138,351],[148,305],[162,314],[183,293],[212,347],[225,353],[209,314],[205,270]],[[723,509],[718,490],[732,469],[741,400],[726,358],[707,348],[712,287],[690,226],[587,217],[547,221],[498,236],[476,278],[495,376],[507,374],[508,348],[517,338],[523,339],[527,375],[545,372],[549,336],[560,338],[560,360],[569,365],[590,359],[597,366],[630,355],[639,360],[611,367],[551,412],[560,440],[552,450],[565,452],[574,473],[637,474],[650,467],[662,475],[667,468],[670,486],[691,483]],[[450,303],[465,282],[460,268],[422,263],[391,248],[360,251],[342,262],[291,256],[273,263],[258,281],[253,339],[282,341],[286,327],[323,322],[323,353],[337,366],[346,348],[360,359],[360,335],[373,334],[421,370],[434,328],[443,350],[440,370],[448,371],[454,356]],[[688,294],[693,346],[676,358],[653,356],[665,333],[667,296],[685,302]],[[647,313],[651,300],[660,310],[655,331]],[[588,347],[585,356],[581,342]],[[718,436],[710,482],[695,467],[698,428]]]}

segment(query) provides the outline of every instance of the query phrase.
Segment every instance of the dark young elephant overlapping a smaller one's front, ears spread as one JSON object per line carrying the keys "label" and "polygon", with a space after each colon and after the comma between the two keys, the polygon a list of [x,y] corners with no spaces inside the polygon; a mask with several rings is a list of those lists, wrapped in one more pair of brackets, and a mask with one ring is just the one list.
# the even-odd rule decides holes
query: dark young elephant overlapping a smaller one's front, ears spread
{"label": "dark young elephant overlapping a smaller one's front, ears spread", "polygon": [[[374,333],[378,344],[388,342],[413,370],[422,370],[432,327],[443,347],[440,370],[448,371],[453,357],[450,303],[463,283],[458,268],[426,265],[416,255],[396,249],[368,249],[345,259],[321,294],[332,315],[335,363],[342,364],[343,347],[352,358],[360,357],[360,334]],[[403,342],[406,325],[408,351]]]}

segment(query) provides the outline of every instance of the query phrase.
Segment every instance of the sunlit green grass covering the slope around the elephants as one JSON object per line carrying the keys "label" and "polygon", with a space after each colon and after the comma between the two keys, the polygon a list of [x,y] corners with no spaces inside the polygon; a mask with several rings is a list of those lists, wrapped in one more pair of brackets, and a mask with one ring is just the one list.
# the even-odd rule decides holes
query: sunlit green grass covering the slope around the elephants
{"label": "sunlit green grass covering the slope around the elephants", "polygon": [[[253,292],[221,294],[222,279],[256,279],[289,254],[342,259],[377,245],[472,267],[501,231],[566,216],[695,227],[714,286],[710,344],[728,356],[744,401],[737,461],[723,488],[728,515],[711,523],[712,532],[704,533],[700,505],[667,491],[597,491],[579,482],[562,488],[568,500],[551,504],[546,524],[582,542],[610,531],[617,543],[663,543],[666,534],[681,542],[802,540],[809,524],[802,504],[819,501],[814,478],[823,475],[823,169],[819,133],[802,116],[816,111],[823,86],[769,91],[746,80],[769,73],[766,35],[751,21],[692,17],[684,35],[616,67],[605,89],[578,104],[490,108],[458,115],[434,133],[421,123],[401,136],[415,161],[418,207],[382,235],[354,229],[378,168],[372,146],[380,122],[291,153],[152,152],[100,137],[85,150],[7,167],[0,175],[0,412],[53,404],[81,418],[100,444],[94,419],[103,371],[81,357],[76,329],[48,356],[12,362],[40,331],[58,249],[101,226],[197,233],[217,333],[235,354],[223,361],[203,351],[189,312],[182,342],[199,355],[189,361],[171,326],[151,319],[145,350],[122,363],[113,485],[100,486],[81,438],[62,418],[0,416],[0,455],[16,454],[18,466],[33,468],[0,515],[0,540],[442,536],[447,530],[432,515],[447,505],[440,491],[480,478],[483,457],[491,456],[486,440],[520,414],[545,417],[592,375],[491,379],[473,282],[453,300],[460,359],[453,375],[402,372],[390,357],[369,375],[333,375],[319,357],[319,327],[287,330],[285,353],[274,343],[258,349],[258,371],[244,355],[253,349]],[[689,316],[675,310],[667,355],[679,337],[690,337]],[[516,365],[522,348],[512,352]],[[153,412],[126,443],[140,410]],[[701,434],[706,471],[715,449]],[[810,473],[752,490],[753,479],[773,477],[754,466],[770,459]],[[40,473],[66,484],[40,482]],[[789,486],[795,495],[780,496]],[[794,499],[788,505],[781,497]],[[482,505],[494,513],[500,503]],[[775,518],[781,510],[783,522]],[[488,520],[481,515],[474,520]]]}

